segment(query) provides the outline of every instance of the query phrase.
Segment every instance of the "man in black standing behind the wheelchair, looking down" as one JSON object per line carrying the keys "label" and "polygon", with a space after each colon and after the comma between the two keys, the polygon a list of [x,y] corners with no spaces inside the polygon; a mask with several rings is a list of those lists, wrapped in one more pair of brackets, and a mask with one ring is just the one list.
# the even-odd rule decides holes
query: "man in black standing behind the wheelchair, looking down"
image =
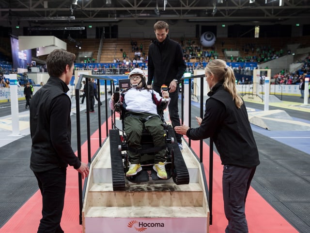
{"label": "man in black standing behind the wheelchair, looking down", "polygon": [[[169,87],[170,104],[169,114],[172,127],[180,125],[180,116],[178,108],[179,83],[186,70],[186,63],[183,59],[183,50],[181,45],[171,40],[168,36],[169,25],[164,21],[158,21],[154,24],[156,40],[150,45],[148,53],[148,88],[161,93],[161,85],[166,84]],[[182,147],[182,135],[176,133],[176,139],[180,150]]]}

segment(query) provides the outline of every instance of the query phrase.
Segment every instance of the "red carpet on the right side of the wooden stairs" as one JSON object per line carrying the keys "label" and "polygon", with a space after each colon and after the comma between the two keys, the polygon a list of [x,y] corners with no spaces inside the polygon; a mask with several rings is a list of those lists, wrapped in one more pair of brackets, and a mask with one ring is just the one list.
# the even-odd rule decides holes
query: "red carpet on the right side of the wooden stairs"
{"label": "red carpet on the right side of the wooden stairs", "polygon": [[[199,141],[191,141],[191,147],[199,154]],[[203,164],[209,181],[209,146],[203,145]],[[224,233],[227,219],[224,214],[222,195],[222,170],[223,166],[219,155],[214,152],[213,161],[213,222],[210,233]],[[254,175],[255,177],[255,175]],[[246,216],[249,233],[298,233],[275,209],[273,209],[253,188],[249,189]]]}

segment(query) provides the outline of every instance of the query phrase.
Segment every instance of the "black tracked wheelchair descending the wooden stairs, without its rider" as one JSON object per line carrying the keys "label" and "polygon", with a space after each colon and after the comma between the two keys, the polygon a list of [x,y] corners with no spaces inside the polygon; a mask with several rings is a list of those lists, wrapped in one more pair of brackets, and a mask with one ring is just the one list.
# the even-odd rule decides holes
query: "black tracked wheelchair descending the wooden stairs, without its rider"
{"label": "black tracked wheelchair descending the wooden stairs, without its rider", "polygon": [[[141,155],[140,165],[142,170],[137,175],[126,177],[125,174],[129,167],[127,136],[124,130],[124,117],[126,110],[122,104],[122,95],[126,88],[130,88],[129,80],[119,80],[119,91],[114,92],[114,118],[115,113],[119,113],[122,122],[122,129],[118,129],[113,121],[113,129],[109,130],[110,141],[110,157],[112,170],[112,184],[114,191],[124,191],[126,179],[128,183],[147,183],[150,177],[154,182],[161,180],[157,177],[153,170],[155,152],[162,150],[162,148],[154,147],[153,138],[147,130],[143,129],[141,136],[141,149],[138,152]],[[167,87],[164,87],[167,88]],[[161,101],[160,106],[157,106],[157,113],[163,121],[166,141],[166,161],[165,168],[167,172],[167,180],[172,178],[173,182],[180,184],[189,183],[189,173],[186,163],[182,156],[181,150],[177,141],[174,140],[175,134],[171,125],[168,125],[164,119],[164,109],[168,102]],[[113,116],[112,116],[113,119]],[[142,119],[143,120],[143,119]],[[145,119],[147,120],[147,119]]]}

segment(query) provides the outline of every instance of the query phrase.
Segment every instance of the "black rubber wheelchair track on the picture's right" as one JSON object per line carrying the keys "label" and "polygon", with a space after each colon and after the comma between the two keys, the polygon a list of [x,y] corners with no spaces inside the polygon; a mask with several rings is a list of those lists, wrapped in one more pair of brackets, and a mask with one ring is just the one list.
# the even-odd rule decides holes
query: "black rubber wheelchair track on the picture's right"
{"label": "black rubber wheelchair track on the picture's right", "polygon": [[[169,137],[174,137],[175,134],[172,129],[172,126],[168,126],[168,135]],[[173,150],[173,173],[172,173],[172,179],[173,182],[176,184],[188,184],[189,183],[189,173],[186,166],[186,163],[184,161],[183,155],[181,153],[181,150],[179,148],[178,143],[175,141],[172,144],[168,144],[168,150],[172,152]]]}

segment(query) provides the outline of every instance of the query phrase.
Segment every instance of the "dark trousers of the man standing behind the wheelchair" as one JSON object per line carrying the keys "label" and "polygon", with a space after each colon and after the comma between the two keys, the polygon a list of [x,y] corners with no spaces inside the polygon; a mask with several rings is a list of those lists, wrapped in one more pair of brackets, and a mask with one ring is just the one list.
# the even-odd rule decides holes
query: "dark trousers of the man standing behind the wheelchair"
{"label": "dark trousers of the man standing behind the wheelchair", "polygon": [[[161,94],[161,87],[154,86],[154,90]],[[172,124],[172,128],[174,129],[175,126],[180,126],[180,116],[179,116],[179,85],[177,85],[176,90],[174,92],[169,92],[170,102],[168,105],[169,108],[169,115]],[[182,135],[175,133],[176,140],[181,143],[182,142]]]}

